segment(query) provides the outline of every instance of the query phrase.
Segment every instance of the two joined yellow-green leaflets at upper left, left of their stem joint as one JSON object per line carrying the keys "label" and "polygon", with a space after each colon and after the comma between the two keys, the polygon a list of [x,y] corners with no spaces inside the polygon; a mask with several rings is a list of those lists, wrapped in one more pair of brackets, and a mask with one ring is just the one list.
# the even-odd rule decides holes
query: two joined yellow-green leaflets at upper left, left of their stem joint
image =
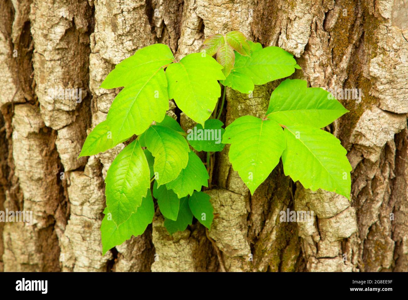
{"label": "two joined yellow-green leaflets at upper left, left of their stem joint", "polygon": [[173,61],[169,47],[154,44],[136,51],[106,76],[102,88],[124,87],[106,117],[115,144],[144,132],[151,122],[163,120],[169,109],[163,67]]}

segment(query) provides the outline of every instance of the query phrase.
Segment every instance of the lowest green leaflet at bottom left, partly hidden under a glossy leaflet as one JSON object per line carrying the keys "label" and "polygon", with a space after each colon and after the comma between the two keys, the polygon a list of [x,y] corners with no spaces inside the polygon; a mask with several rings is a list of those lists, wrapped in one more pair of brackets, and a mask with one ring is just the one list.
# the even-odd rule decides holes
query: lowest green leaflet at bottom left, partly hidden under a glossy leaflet
{"label": "lowest green leaflet at bottom left, partly hidden under a glossy leaflet", "polygon": [[109,210],[106,208],[101,224],[102,255],[109,249],[129,240],[132,236],[140,236],[146,230],[154,216],[151,192],[149,191],[142,199],[142,204],[137,208],[137,211],[132,213],[129,219],[120,224],[119,227],[116,227],[116,224],[109,219],[108,213]]}

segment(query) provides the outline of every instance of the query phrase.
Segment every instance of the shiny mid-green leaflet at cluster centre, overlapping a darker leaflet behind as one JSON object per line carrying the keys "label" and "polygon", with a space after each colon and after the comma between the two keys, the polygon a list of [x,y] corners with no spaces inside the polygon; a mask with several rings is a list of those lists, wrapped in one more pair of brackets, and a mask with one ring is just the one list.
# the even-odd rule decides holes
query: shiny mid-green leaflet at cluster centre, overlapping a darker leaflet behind
{"label": "shiny mid-green leaflet at cluster centre, overlapping a darker leaflet behind", "polygon": [[177,178],[187,166],[188,144],[177,131],[160,125],[153,125],[146,131],[147,149],[153,154],[155,178],[158,185]]}

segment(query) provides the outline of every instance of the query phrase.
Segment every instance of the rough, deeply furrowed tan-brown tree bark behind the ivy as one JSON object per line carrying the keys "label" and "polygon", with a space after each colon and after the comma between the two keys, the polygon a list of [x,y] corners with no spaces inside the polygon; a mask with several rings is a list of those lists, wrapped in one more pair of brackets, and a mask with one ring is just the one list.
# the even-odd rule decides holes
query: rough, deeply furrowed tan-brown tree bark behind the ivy
{"label": "rough, deeply furrowed tan-brown tree bark behind the ivy", "polygon": [[[165,43],[181,58],[230,30],[293,53],[302,70],[291,78],[311,87],[362,89],[327,128],[349,151],[352,201],[305,190],[282,164],[250,196],[226,147],[206,191],[211,231],[170,236],[157,213],[102,256],[103,180],[124,145],[77,160],[119,92],[100,83],[141,47]],[[0,210],[34,218],[0,222],[0,271],[408,271],[407,40],[404,0],[0,1]],[[252,98],[228,89],[222,120],[262,116],[277,84]],[[82,101],[53,100],[54,87],[80,88]],[[279,222],[286,209],[315,220]]]}

